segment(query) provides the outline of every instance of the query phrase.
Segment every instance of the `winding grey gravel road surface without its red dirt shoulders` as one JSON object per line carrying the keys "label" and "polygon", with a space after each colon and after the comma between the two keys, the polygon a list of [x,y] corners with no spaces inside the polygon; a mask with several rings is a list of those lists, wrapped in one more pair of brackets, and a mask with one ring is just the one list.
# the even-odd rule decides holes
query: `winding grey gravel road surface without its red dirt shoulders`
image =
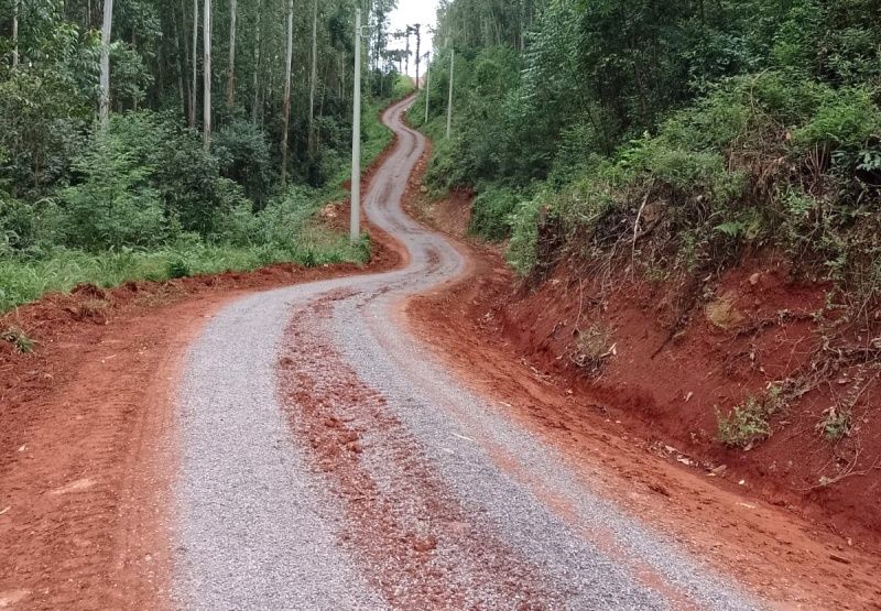
{"label": "winding grey gravel road surface without its red dirt shoulders", "polygon": [[424,140],[407,102],[365,198],[399,271],[241,298],[178,391],[181,609],[753,609],[740,587],[592,493],[553,448],[410,336],[402,303],[463,255],[401,209]]}

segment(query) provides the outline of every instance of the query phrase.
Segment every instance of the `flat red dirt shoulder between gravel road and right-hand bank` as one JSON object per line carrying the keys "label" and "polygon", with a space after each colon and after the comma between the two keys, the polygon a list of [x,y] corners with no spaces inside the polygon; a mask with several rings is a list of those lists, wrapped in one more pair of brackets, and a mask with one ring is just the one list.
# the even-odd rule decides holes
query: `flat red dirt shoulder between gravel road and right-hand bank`
{"label": "flat red dirt shoulder between gravel road and right-hand bank", "polygon": [[645,429],[634,433],[570,380],[546,374],[520,357],[491,314],[497,299],[510,294],[512,277],[497,252],[461,239],[467,194],[428,205],[417,172],[405,201],[412,214],[450,233],[469,255],[465,279],[412,299],[404,312],[412,332],[466,383],[498,399],[510,417],[558,448],[586,485],[779,608],[881,608],[881,564],[873,543],[851,546],[795,506],[772,505],[744,494],[738,483],[689,469],[682,463],[687,457],[663,447],[659,451]]}

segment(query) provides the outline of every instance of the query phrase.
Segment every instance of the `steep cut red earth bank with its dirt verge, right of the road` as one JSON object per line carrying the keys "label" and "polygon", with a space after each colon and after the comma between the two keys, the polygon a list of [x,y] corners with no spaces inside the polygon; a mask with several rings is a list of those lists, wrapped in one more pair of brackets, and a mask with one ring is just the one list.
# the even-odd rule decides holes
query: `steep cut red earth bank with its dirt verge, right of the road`
{"label": "steep cut red earth bank with its dirt verge, right of the road", "polygon": [[[559,448],[591,487],[764,597],[783,607],[801,592],[796,608],[881,608],[881,470],[867,458],[881,456],[881,421],[871,419],[881,397],[875,379],[858,371],[869,368],[837,377],[866,389],[858,436],[829,444],[816,429],[830,396],[845,394],[842,383],[811,393],[780,416],[780,434],[748,451],[716,439],[714,406],[809,368],[813,329],[802,314],[823,305],[824,287],[787,283],[780,265],[747,263],[724,279],[721,305],[700,308],[671,334],[679,304],[668,287],[614,279],[621,288],[597,308],[596,286],[566,265],[544,282],[519,282],[499,248],[468,239],[471,194],[426,195],[427,159],[405,205],[455,238],[471,268],[405,306],[414,334]],[[791,314],[777,319],[784,310]],[[574,329],[591,325],[610,330],[592,375],[574,341]],[[838,479],[818,485],[824,474]]]}

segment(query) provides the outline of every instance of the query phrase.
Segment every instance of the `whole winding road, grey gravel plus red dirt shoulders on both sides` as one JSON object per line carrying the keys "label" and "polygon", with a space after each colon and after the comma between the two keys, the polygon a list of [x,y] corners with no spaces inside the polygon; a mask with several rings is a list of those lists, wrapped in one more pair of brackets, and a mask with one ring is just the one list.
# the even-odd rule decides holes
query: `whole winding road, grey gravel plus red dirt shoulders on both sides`
{"label": "whole winding road, grey gravel plus red dirt shoulders on both sides", "polygon": [[0,609],[878,608],[875,556],[609,433],[474,332],[491,263],[402,211],[406,103],[365,199],[377,273],[15,315],[42,343],[0,359]]}

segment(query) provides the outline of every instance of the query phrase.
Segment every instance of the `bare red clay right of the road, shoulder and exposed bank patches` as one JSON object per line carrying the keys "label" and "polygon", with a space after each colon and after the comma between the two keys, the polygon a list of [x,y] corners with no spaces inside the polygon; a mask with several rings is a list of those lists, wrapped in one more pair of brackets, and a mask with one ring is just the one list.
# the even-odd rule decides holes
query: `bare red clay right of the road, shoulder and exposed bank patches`
{"label": "bare red clay right of the road, shoulder and exposed bank patches", "polygon": [[[424,209],[424,200],[414,181],[407,206]],[[455,208],[467,204],[458,196],[422,216],[460,219],[461,210]],[[459,221],[454,233],[466,225]],[[777,473],[807,468],[807,455],[797,452],[792,440],[780,451],[796,452],[793,462],[800,465],[779,457],[777,471],[758,468],[768,461],[764,447],[772,447],[774,437],[750,452],[728,451],[711,441],[714,402],[730,405],[726,402],[762,386],[730,357],[742,351],[743,340],[732,343],[730,332],[725,336],[709,323],[697,323],[700,332],[689,328],[651,359],[666,338],[652,309],[659,302],[650,294],[622,293],[603,318],[614,329],[618,356],[596,383],[568,363],[570,342],[554,342],[554,337],[572,332],[578,303],[589,297],[580,295],[577,281],[557,276],[533,294],[518,292],[497,254],[482,246],[459,246],[470,254],[467,277],[412,299],[406,314],[413,332],[436,347],[438,357],[467,383],[496,396],[508,415],[556,446],[587,485],[781,608],[881,609],[881,545],[878,532],[857,511],[877,515],[877,509],[866,502],[848,508],[853,499],[871,497],[858,489],[872,480],[841,481],[837,485],[847,489],[833,488],[824,497],[786,491]],[[747,302],[753,312],[776,312],[784,302],[793,312],[818,305],[815,290],[781,287],[766,271],[753,284],[752,274],[746,269],[726,279],[725,288],[742,293],[733,299],[736,312],[746,309]],[[749,336],[760,354],[755,368],[773,379],[783,354],[788,358],[800,346],[803,331],[795,324]],[[802,353],[794,352],[793,363]],[[737,374],[742,378],[719,383]],[[693,395],[686,402],[687,393]],[[815,434],[807,437],[809,445],[825,443]],[[717,473],[706,468],[721,465],[726,469]],[[830,503],[829,498],[839,500]],[[842,532],[841,524],[849,530]]]}

